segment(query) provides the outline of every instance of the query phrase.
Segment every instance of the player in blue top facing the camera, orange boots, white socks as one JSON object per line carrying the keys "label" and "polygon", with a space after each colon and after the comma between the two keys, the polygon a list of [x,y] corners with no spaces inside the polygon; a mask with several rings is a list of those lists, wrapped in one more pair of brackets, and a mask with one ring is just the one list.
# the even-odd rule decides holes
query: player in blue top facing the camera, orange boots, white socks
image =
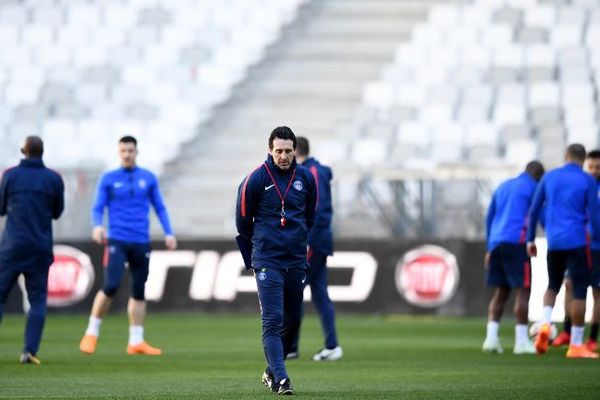
{"label": "player in blue top facing the camera, orange boots, white socks", "polygon": [[[144,288],[150,261],[150,204],[154,207],[165,232],[167,249],[174,250],[177,241],[171,230],[167,209],[163,204],[156,176],[136,165],[137,141],[132,136],[119,140],[121,168],[105,173],[98,184],[96,201],[92,209],[94,230],[92,238],[98,244],[108,239],[104,287],[98,291],[89,324],[81,339],[79,349],[92,354],[96,349],[102,317],[108,311],[125,266],[131,274],[131,297],[127,305],[129,314],[129,344],[127,354],[159,355],[161,350],[144,341],[146,302]],[[105,235],[103,215],[108,208],[108,235]],[[106,262],[106,261],[105,261]]]}

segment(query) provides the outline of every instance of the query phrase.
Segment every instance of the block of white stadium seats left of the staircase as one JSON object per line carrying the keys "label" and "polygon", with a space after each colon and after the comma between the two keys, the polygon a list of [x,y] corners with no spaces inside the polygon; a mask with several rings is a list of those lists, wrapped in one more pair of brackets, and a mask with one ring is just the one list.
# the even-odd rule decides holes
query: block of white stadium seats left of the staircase
{"label": "block of white stadium seats left of the staircase", "polygon": [[3,1],[2,163],[14,162],[15,141],[41,134],[52,165],[104,167],[115,139],[134,134],[160,172],[301,2]]}

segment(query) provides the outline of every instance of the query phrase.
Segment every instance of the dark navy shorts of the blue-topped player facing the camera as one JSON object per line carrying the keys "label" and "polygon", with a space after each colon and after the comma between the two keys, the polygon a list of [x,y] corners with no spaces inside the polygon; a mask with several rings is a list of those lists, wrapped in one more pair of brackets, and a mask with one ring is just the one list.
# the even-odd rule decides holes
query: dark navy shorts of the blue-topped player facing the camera
{"label": "dark navy shorts of the blue-topped player facing the camera", "polygon": [[135,300],[144,300],[150,264],[150,243],[109,240],[106,250],[108,259],[105,260],[106,269],[104,288],[102,289],[104,293],[109,297],[115,295],[121,284],[125,267],[129,266],[131,297]]}

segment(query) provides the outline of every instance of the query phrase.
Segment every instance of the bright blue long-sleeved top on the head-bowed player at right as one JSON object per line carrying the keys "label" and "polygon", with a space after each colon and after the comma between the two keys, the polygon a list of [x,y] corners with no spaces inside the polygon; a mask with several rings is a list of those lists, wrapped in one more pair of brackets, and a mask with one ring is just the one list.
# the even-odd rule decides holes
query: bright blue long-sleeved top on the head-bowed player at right
{"label": "bright blue long-sleeved top on the head-bowed player at right", "polygon": [[525,244],[527,215],[536,181],[527,172],[502,183],[492,196],[487,214],[487,249],[500,243]]}

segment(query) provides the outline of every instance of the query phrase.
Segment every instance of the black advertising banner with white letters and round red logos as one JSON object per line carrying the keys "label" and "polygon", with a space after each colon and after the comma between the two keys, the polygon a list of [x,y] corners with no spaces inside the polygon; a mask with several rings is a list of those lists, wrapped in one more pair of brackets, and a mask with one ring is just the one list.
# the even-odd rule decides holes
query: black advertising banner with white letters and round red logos
{"label": "black advertising banner with white letters and round red logos", "polygon": [[[176,251],[155,243],[146,299],[151,311],[258,310],[256,284],[235,241],[182,241]],[[483,242],[343,240],[328,259],[329,294],[337,311],[483,315]],[[102,287],[104,248],[90,242],[60,243],[48,279],[50,312],[89,312]],[[27,307],[22,283],[7,312]],[[124,310],[130,293],[126,273],[113,310]],[[305,291],[305,300],[310,290]],[[310,307],[310,306],[309,306]]]}

